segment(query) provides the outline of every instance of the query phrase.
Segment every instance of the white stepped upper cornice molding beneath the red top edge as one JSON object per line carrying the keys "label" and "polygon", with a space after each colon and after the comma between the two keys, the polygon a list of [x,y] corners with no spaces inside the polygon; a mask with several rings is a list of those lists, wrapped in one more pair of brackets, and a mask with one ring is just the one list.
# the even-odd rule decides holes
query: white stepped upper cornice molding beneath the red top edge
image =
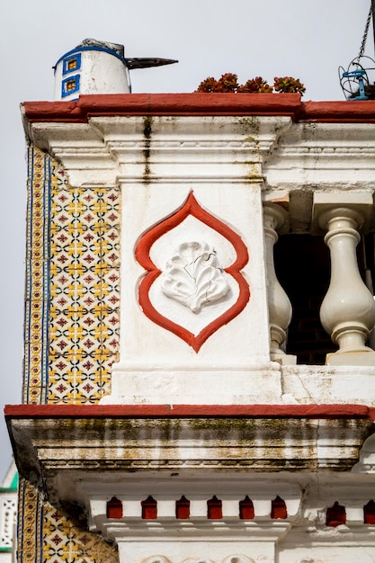
{"label": "white stepped upper cornice molding beneath the red top edge", "polygon": [[[149,94],[142,98],[142,94],[131,94],[133,98],[126,94],[125,98],[113,95],[111,100],[106,95],[93,95],[81,96],[77,105],[69,106],[26,103],[30,121],[25,120],[25,127],[36,146],[63,163],[73,186],[113,186],[120,181],[132,185],[145,181],[143,125],[145,119],[153,119],[145,117],[150,112],[149,103],[156,103],[156,108],[165,111],[169,107],[170,113],[161,118],[155,114],[152,121],[147,182],[189,183],[191,187],[196,183],[246,183],[257,184],[263,191],[287,191],[291,197],[299,194],[301,200],[294,197],[290,205],[292,231],[301,231],[301,213],[306,218],[305,229],[309,229],[311,207],[303,196],[332,189],[355,192],[371,187],[375,169],[373,112],[369,109],[372,102],[308,102],[300,106],[301,115],[304,119],[313,116],[314,122],[299,123],[283,112],[274,115],[272,104],[265,103],[266,99],[254,101],[256,94],[248,95],[253,103],[261,103],[263,113],[251,114],[251,106],[244,105],[244,98],[242,102],[234,100],[244,110],[242,114],[216,114],[215,107],[220,108],[228,95],[231,94]],[[269,95],[279,103],[280,95]],[[297,96],[282,97],[289,95]],[[236,98],[237,94],[233,96]],[[215,107],[208,103],[210,98]],[[92,107],[94,99],[97,103]],[[147,99],[146,105],[140,103],[141,99],[144,103]],[[168,106],[167,101],[172,100],[174,104]],[[188,106],[179,107],[182,100],[193,102],[196,111],[199,107],[200,112],[210,108],[211,117],[204,111],[184,113]],[[125,116],[122,112],[127,104],[129,112]],[[108,115],[111,107],[116,113]],[[178,107],[181,114],[174,115]],[[90,117],[85,115],[81,119],[86,111]],[[60,112],[64,117],[54,122]]]}

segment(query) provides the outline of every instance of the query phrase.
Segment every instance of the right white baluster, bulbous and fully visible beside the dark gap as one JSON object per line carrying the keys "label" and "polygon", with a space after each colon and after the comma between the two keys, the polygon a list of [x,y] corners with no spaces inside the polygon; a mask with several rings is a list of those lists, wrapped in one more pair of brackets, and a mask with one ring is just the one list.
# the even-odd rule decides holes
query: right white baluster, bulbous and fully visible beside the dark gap
{"label": "right white baluster, bulbous and fully visible beside the dark gap", "polygon": [[355,247],[360,241],[362,214],[351,207],[322,212],[319,225],[327,230],[331,281],[320,308],[320,320],[339,350],[327,354],[331,365],[375,365],[375,352],[365,345],[375,324],[375,302],[362,281]]}

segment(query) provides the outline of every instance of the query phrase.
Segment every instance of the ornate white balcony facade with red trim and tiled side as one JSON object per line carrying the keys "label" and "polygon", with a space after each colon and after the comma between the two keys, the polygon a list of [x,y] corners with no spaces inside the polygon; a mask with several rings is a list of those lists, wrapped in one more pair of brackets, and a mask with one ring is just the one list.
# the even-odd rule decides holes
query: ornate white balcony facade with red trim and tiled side
{"label": "ornate white balcony facade with red trim and tiled side", "polygon": [[51,186],[30,298],[49,368],[6,416],[38,502],[79,513],[107,560],[375,559],[374,111],[299,94],[23,104]]}

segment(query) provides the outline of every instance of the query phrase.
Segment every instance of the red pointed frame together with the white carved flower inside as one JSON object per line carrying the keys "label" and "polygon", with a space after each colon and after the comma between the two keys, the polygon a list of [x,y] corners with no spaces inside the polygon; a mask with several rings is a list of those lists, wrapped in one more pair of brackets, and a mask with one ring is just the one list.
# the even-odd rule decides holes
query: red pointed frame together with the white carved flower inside
{"label": "red pointed frame together with the white carved flower inside", "polygon": [[[216,235],[224,237],[226,244],[233,251],[234,260],[231,264],[221,268],[214,247],[202,241],[179,244],[169,259],[167,256],[164,269],[154,264],[151,259],[152,246],[161,237],[181,226],[188,218],[194,218],[208,230],[212,229]],[[135,255],[138,264],[147,271],[138,288],[138,301],[143,312],[156,325],[163,326],[182,338],[196,353],[220,326],[228,324],[237,317],[250,299],[249,285],[241,273],[241,269],[248,262],[247,248],[242,238],[228,225],[203,210],[192,192],[180,209],[150,228],[140,238]],[[159,276],[161,276],[160,280],[158,280]],[[158,292],[164,297],[178,301],[184,309],[189,308],[192,317],[200,316],[202,308],[208,305],[215,305],[218,308],[217,317],[215,317],[215,309],[210,317],[207,317],[206,324],[203,318],[204,326],[197,332],[186,326],[188,323],[185,323],[185,326],[183,322],[179,324],[175,318],[165,314],[165,309],[160,310],[161,308],[152,299],[151,293],[155,292],[153,285],[157,282],[160,284]],[[234,290],[231,290],[231,287]],[[219,308],[220,303],[221,308]]]}

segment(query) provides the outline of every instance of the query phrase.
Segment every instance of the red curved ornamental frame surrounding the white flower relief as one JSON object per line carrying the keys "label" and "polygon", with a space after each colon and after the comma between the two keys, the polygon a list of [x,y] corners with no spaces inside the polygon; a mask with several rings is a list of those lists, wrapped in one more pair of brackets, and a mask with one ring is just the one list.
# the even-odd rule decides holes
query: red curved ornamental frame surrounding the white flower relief
{"label": "red curved ornamental frame surrounding the white flower relief", "polygon": [[[225,313],[220,315],[218,318],[215,318],[209,325],[205,326],[198,335],[193,335],[189,330],[183,328],[183,326],[180,326],[169,318],[161,315],[152,305],[149,298],[149,290],[152,284],[162,273],[161,270],[156,268],[156,265],[151,260],[151,246],[153,246],[159,237],[162,237],[165,233],[182,223],[183,219],[186,219],[189,215],[199,219],[202,223],[210,228],[213,228],[223,237],[226,237],[234,246],[237,253],[237,259],[235,262],[228,266],[228,268],[224,268],[224,272],[227,272],[237,281],[239,287],[238,299],[232,307],[225,311]],[[198,201],[196,201],[193,192],[189,193],[187,200],[184,201],[180,209],[176,210],[168,218],[162,220],[155,227],[150,228],[147,233],[140,238],[135,250],[135,256],[138,264],[147,271],[138,288],[138,301],[144,314],[156,323],[156,325],[162,326],[166,330],[174,333],[174,335],[182,338],[187,344],[192,346],[192,349],[196,353],[199,352],[201,345],[206,342],[210,335],[213,335],[213,333],[221,326],[227,325],[229,321],[237,317],[237,315],[246,307],[246,304],[250,299],[249,285],[240,272],[249,260],[247,248],[242,238],[229,228],[228,225],[222,223],[219,219],[212,217],[210,213],[203,210]]]}

